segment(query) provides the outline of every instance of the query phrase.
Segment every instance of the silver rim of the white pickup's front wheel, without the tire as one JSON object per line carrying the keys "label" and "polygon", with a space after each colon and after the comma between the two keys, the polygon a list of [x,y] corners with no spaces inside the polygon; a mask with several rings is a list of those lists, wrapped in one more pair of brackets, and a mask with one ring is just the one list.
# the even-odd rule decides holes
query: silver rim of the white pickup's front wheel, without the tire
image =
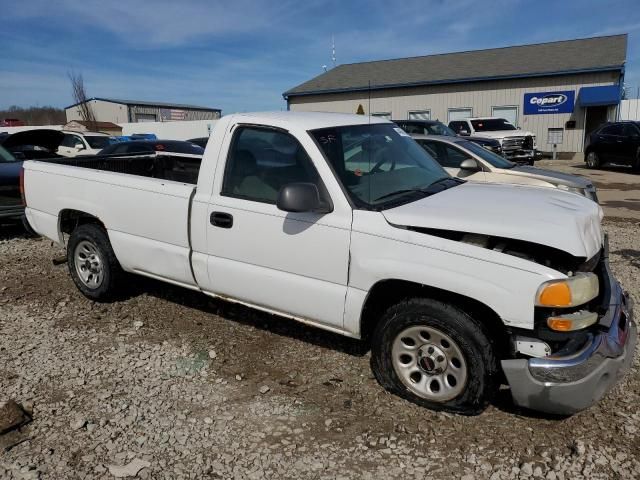
{"label": "silver rim of the white pickup's front wheel, without the tire", "polygon": [[453,339],[433,327],[409,327],[396,336],[393,368],[402,383],[421,398],[451,400],[465,388],[467,363]]}

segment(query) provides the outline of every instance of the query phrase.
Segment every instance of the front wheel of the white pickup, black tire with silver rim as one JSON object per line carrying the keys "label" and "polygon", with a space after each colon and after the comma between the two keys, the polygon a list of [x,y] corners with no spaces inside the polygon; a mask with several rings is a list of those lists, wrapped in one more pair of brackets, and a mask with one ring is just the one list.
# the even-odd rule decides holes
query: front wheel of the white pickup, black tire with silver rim
{"label": "front wheel of the white pickup, black tire with silver rim", "polygon": [[371,368],[384,388],[432,410],[478,415],[497,389],[494,346],[482,325],[428,298],[385,312],[372,339]]}

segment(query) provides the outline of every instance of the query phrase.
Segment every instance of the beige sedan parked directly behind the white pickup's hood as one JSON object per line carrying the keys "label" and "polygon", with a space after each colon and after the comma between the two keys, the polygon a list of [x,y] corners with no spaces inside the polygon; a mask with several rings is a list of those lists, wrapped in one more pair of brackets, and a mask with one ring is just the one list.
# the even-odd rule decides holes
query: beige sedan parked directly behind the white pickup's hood
{"label": "beige sedan parked directly behind the white pickup's hood", "polygon": [[596,187],[586,178],[528,165],[517,165],[464,137],[412,137],[454,177],[473,182],[558,188],[598,201]]}

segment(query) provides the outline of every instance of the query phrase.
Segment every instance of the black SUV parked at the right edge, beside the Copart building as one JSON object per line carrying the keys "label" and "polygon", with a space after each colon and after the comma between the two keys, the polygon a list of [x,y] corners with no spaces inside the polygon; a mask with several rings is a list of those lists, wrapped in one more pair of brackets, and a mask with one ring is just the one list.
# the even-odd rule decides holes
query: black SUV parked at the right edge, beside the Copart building
{"label": "black SUV parked at the right edge, beside the Copart building", "polygon": [[589,168],[617,163],[640,170],[640,122],[603,123],[587,135],[584,153]]}

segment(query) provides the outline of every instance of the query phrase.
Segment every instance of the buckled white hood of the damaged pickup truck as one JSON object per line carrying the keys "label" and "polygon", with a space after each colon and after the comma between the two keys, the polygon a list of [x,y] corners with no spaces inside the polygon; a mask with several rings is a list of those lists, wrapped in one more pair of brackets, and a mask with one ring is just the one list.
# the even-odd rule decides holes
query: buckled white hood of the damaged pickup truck
{"label": "buckled white hood of the damaged pickup truck", "polygon": [[393,225],[523,240],[587,259],[603,241],[595,202],[545,187],[467,182],[382,214]]}

